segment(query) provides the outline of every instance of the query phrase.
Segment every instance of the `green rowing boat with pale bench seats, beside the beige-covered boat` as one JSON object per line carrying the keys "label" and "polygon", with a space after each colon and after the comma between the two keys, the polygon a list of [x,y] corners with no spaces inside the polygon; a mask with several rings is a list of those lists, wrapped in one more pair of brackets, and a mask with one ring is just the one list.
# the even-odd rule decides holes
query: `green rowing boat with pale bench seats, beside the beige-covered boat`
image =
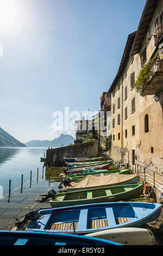
{"label": "green rowing boat with pale bench seats, beside the beige-covered boat", "polygon": [[57,193],[54,199],[50,200],[52,208],[97,204],[106,202],[118,202],[143,193],[143,184],[128,184],[108,187],[90,188],[89,190]]}

